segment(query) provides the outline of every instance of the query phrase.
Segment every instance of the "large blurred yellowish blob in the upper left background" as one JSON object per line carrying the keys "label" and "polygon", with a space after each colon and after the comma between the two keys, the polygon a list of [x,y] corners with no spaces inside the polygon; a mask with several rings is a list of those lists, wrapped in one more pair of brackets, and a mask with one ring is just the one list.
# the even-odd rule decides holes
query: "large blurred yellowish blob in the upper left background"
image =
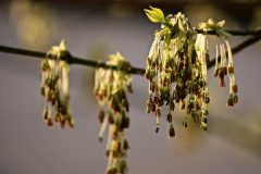
{"label": "large blurred yellowish blob in the upper left background", "polygon": [[10,0],[9,7],[10,20],[21,44],[32,49],[48,48],[59,26],[52,8],[32,0]]}

